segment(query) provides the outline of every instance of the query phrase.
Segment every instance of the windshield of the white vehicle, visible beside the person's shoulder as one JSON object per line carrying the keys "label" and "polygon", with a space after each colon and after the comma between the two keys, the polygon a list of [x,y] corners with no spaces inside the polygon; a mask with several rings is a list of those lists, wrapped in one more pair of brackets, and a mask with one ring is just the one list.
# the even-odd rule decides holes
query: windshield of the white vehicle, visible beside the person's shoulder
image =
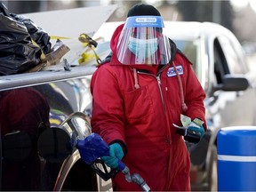
{"label": "windshield of the white vehicle, visible beside the person's shoulder", "polygon": [[178,40],[173,39],[177,47],[183,52],[188,60],[193,63],[193,68],[196,72],[196,76],[200,76],[201,74],[201,47],[200,47],[200,39],[193,39],[193,40]]}

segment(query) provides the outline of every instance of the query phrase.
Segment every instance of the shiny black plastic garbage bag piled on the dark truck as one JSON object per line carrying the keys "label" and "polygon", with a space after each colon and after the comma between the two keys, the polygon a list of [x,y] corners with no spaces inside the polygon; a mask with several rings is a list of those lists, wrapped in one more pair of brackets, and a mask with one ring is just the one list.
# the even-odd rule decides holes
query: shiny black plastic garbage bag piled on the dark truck
{"label": "shiny black plastic garbage bag piled on the dark truck", "polygon": [[[32,43],[32,36],[37,45]],[[49,41],[50,37],[32,20],[10,14],[0,3],[0,76],[19,74],[36,67],[42,50],[45,53],[51,51]]]}

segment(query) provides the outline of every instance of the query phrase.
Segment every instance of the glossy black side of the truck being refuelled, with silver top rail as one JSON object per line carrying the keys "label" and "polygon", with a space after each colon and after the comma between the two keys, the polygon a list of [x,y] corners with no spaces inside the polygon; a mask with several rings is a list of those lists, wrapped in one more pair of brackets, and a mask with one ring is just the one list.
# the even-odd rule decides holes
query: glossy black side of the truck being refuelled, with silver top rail
{"label": "glossy black side of the truck being refuelled, with silver top rail", "polygon": [[47,133],[54,127],[77,138],[91,133],[84,124],[90,122],[94,70],[82,66],[0,76],[2,190],[105,190],[105,181],[81,161],[70,140]]}

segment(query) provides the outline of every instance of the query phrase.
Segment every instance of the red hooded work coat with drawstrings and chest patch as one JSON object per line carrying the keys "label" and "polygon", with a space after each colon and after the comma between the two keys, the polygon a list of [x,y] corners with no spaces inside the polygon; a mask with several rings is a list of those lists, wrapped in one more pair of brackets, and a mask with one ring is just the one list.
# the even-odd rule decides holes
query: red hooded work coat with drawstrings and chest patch
{"label": "red hooded work coat with drawstrings and chest patch", "polygon": [[[158,72],[156,67],[121,64],[116,58],[116,43],[123,27],[116,28],[112,37],[110,62],[92,76],[92,132],[98,132],[108,144],[122,143],[127,152],[122,161],[131,173],[139,173],[151,190],[190,190],[188,151],[172,124],[180,124],[180,114],[205,122],[204,90],[190,62],[176,52],[173,43],[172,62]],[[173,62],[179,69],[186,112],[181,108]],[[134,87],[136,78],[138,89]],[[116,175],[113,184],[115,190],[140,190],[128,183],[123,173]]]}

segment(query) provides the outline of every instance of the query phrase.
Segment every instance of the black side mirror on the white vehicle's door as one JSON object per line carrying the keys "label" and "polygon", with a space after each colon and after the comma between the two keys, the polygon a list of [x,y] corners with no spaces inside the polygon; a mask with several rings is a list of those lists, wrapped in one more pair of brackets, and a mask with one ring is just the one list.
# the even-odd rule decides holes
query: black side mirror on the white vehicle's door
{"label": "black side mirror on the white vehicle's door", "polygon": [[222,84],[215,87],[215,90],[226,92],[244,91],[249,87],[249,81],[243,75],[225,75]]}

